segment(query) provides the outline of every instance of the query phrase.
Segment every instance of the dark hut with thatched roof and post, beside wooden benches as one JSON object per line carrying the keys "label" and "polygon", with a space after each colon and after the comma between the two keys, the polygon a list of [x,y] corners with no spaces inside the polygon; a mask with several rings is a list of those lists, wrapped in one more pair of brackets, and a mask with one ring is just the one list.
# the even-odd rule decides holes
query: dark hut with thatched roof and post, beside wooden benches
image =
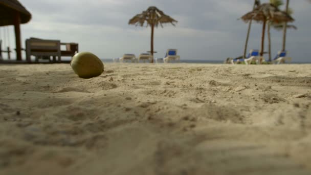
{"label": "dark hut with thatched roof and post, beside wooden benches", "polygon": [[0,27],[14,26],[16,60],[21,60],[20,24],[28,23],[30,12],[17,0],[0,0]]}

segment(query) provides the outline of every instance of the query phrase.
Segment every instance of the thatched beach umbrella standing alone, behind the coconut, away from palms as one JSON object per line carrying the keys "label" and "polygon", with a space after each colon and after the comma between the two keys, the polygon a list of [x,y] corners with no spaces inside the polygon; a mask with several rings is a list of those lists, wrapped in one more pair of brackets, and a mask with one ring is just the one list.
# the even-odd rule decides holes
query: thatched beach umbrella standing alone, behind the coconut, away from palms
{"label": "thatched beach umbrella standing alone, behind the coconut, away from palms", "polygon": [[[177,21],[170,16],[164,14],[161,10],[159,10],[157,7],[151,6],[146,11],[143,11],[140,14],[137,14],[136,16],[132,17],[128,24],[129,25],[136,25],[143,27],[146,22],[146,26],[151,27],[151,55],[153,56],[153,30],[154,27],[158,27],[159,24],[163,28],[162,24],[170,23],[173,26],[175,26],[174,23],[177,23]],[[153,62],[153,59],[152,61]]]}

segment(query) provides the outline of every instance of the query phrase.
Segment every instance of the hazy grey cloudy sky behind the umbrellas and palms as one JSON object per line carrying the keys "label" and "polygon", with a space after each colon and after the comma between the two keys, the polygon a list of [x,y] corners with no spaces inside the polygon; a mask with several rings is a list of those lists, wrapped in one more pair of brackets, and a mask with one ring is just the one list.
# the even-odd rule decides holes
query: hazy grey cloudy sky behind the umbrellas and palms
{"label": "hazy grey cloudy sky behind the umbrellas and palms", "polygon": [[[19,0],[32,14],[21,25],[25,39],[38,37],[79,43],[79,51],[100,58],[137,56],[150,50],[150,27],[128,25],[128,20],[149,6],[156,6],[178,21],[154,30],[155,57],[167,49],[178,49],[181,59],[218,60],[242,55],[248,25],[238,20],[252,10],[253,0]],[[261,0],[261,3],[268,0]],[[287,30],[286,50],[296,62],[311,62],[311,3],[292,0],[293,23],[298,30]],[[282,6],[281,9],[285,7]],[[248,50],[260,49],[262,24],[253,23]],[[10,45],[15,48],[13,27]],[[1,32],[1,31],[0,31]],[[272,55],[282,48],[282,31],[271,30]],[[265,51],[268,38],[265,38]],[[23,54],[24,55],[24,54]],[[265,55],[268,57],[268,55]]]}

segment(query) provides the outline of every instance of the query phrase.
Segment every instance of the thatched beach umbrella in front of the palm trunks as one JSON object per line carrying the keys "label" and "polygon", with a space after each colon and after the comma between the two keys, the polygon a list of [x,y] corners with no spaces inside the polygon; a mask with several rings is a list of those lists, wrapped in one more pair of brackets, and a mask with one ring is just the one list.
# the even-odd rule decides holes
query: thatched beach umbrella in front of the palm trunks
{"label": "thatched beach umbrella in front of the palm trunks", "polygon": [[247,14],[243,15],[241,18],[246,23],[249,20],[255,20],[259,23],[262,23],[260,56],[263,55],[263,50],[264,50],[263,43],[264,43],[264,31],[265,31],[266,21],[270,20],[276,24],[294,21],[294,19],[290,15],[288,15],[287,13],[283,11],[280,11],[276,6],[270,3],[265,3],[265,4],[258,6],[253,11],[248,12]]}

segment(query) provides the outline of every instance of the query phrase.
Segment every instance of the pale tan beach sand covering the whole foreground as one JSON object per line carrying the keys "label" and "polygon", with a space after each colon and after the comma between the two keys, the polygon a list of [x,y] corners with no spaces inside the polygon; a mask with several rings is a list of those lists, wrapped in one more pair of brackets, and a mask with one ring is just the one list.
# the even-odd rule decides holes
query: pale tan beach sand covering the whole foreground
{"label": "pale tan beach sand covering the whole foreground", "polygon": [[0,174],[311,174],[311,64],[0,65]]}

